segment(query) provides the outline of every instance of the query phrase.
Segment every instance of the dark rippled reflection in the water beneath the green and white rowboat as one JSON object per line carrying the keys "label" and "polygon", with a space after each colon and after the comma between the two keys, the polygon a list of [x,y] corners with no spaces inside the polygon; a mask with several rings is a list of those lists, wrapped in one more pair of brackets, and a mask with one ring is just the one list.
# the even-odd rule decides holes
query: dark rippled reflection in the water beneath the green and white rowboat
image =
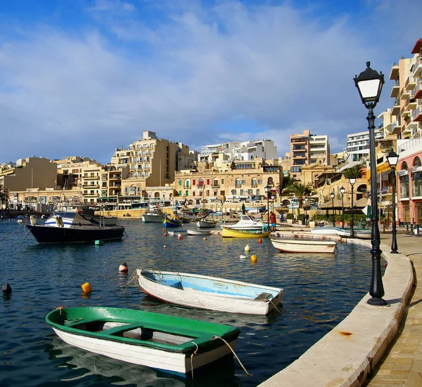
{"label": "dark rippled reflection in the water beneath the green and white rowboat", "polygon": [[[218,360],[212,367],[207,367],[207,372],[196,372],[192,380],[91,353],[70,346],[56,337],[51,339],[46,351],[49,353],[49,360],[60,360],[60,365],[56,367],[68,369],[67,372],[63,372],[63,377],[58,381],[71,382],[84,379],[82,383],[90,385],[101,378],[105,386],[113,384],[136,387],[185,387],[193,386],[193,383],[195,386],[204,387],[237,385],[233,356]],[[75,383],[70,385],[75,385]]]}

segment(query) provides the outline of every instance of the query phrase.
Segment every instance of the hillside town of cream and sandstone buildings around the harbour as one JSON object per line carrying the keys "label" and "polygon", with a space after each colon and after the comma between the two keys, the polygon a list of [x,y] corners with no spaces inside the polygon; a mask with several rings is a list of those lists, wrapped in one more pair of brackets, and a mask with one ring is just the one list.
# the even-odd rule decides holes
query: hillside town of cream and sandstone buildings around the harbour
{"label": "hillside town of cream and sandstone buildings around the harbour", "polygon": [[[421,223],[422,217],[422,39],[410,58],[392,65],[392,107],[378,115],[375,130],[379,207],[392,218],[392,173],[386,159],[397,162],[397,220]],[[345,171],[362,166],[350,184]],[[368,171],[368,173],[366,173]],[[369,191],[369,131],[347,135],[343,152],[331,153],[326,135],[290,135],[290,152],[278,156],[269,139],[231,141],[191,150],[188,145],[143,131],[127,147],[116,147],[110,163],[89,157],[49,160],[27,157],[0,165],[1,209],[40,213],[58,204],[89,204],[122,211],[151,204],[207,206],[239,210],[241,202],[268,202],[279,214],[294,212],[289,183],[309,188],[309,210],[335,211],[340,206],[366,206]],[[353,192],[353,193],[352,193]],[[303,207],[300,197],[300,207]],[[296,198],[297,200],[297,198]],[[341,204],[340,204],[341,203]]]}

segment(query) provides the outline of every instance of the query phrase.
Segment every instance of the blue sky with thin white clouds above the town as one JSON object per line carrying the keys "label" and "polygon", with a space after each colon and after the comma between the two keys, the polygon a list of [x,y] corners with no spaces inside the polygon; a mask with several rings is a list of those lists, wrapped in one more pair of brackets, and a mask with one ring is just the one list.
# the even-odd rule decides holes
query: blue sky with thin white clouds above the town
{"label": "blue sky with thin white clouds above the town", "polygon": [[[83,156],[154,131],[193,150],[367,130],[353,78],[422,37],[421,0],[1,0],[0,163]],[[379,124],[380,122],[377,122]]]}

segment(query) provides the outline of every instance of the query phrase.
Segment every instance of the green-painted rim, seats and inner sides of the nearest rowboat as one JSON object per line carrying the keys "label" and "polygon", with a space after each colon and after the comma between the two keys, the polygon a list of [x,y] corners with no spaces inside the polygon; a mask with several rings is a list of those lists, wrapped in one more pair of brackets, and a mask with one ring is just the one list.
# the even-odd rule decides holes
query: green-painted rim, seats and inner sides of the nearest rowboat
{"label": "green-painted rim, seats and inner sides of the nearest rowboat", "polygon": [[[156,348],[167,352],[186,353],[186,356],[193,352],[207,352],[226,345],[222,340],[218,339],[222,338],[225,341],[232,341],[240,334],[240,330],[237,327],[229,325],[122,308],[82,307],[56,309],[47,313],[44,320],[51,327],[68,334]],[[105,323],[119,325],[96,331],[96,328]],[[147,339],[142,339],[142,336],[141,339],[123,336],[125,332],[139,328],[150,334],[163,332],[164,334],[179,336],[185,341],[183,343],[170,344],[147,341]],[[148,334],[144,334],[144,336],[148,336]],[[148,339],[151,340],[151,337],[149,336]]]}

